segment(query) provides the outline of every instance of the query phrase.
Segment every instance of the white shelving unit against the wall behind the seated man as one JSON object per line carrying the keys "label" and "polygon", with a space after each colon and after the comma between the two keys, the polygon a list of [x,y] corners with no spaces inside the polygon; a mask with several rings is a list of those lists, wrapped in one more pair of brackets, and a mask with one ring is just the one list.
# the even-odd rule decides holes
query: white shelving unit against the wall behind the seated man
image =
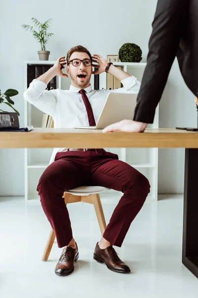
{"label": "white shelving unit against the wall behind the seated man", "polygon": [[[25,90],[27,89],[27,65],[28,64],[49,64],[53,65],[55,61],[25,61]],[[136,76],[140,81],[146,67],[146,63],[114,63],[122,69]],[[69,89],[70,79],[57,77],[56,86],[60,89]],[[94,87],[94,76],[91,79]],[[106,73],[99,76],[99,87],[106,88]],[[24,101],[25,125],[41,127],[43,112],[36,107]],[[158,107],[156,108],[155,118],[149,128],[158,128]],[[106,148],[105,148],[106,149]],[[49,164],[53,148],[49,149],[25,149],[25,200],[38,199],[37,185],[40,176]],[[108,150],[108,149],[106,149]],[[150,201],[157,200],[157,175],[158,175],[158,149],[157,148],[109,148],[113,153],[118,154],[119,159],[125,161],[143,173],[150,183]],[[105,193],[105,197],[118,197],[120,194],[113,190]]]}

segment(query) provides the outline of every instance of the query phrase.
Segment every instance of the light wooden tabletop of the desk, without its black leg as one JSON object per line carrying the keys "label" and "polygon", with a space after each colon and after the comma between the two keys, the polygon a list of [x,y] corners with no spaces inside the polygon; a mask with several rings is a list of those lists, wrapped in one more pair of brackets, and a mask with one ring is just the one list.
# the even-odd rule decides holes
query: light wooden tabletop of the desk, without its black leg
{"label": "light wooden tabletop of the desk, without its black leg", "polygon": [[75,128],[0,132],[0,148],[198,148],[198,132],[147,129],[144,133],[102,133]]}

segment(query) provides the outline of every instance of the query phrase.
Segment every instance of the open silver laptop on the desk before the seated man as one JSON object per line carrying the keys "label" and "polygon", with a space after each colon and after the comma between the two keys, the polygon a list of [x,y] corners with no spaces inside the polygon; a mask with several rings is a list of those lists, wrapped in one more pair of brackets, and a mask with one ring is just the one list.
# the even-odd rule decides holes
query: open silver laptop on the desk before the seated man
{"label": "open silver laptop on the desk before the seated man", "polygon": [[138,94],[134,93],[109,93],[96,126],[76,126],[75,128],[103,129],[124,119],[133,120],[137,96]]}

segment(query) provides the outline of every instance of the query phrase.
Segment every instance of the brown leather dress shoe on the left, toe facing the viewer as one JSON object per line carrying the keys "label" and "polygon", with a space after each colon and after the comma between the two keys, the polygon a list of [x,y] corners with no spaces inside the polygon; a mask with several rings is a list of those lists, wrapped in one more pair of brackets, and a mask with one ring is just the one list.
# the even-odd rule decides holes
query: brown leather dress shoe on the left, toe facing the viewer
{"label": "brown leather dress shoe on the left, toe facing the viewer", "polygon": [[66,276],[74,271],[74,262],[79,258],[78,246],[72,248],[72,246],[63,248],[62,254],[55,267],[55,274],[59,276]]}

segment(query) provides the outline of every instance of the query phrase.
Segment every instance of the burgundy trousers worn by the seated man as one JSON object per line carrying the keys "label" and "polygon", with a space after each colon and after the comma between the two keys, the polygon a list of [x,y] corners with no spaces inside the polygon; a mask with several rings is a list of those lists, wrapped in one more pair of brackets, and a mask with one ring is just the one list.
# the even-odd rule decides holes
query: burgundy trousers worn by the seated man
{"label": "burgundy trousers worn by the seated man", "polygon": [[103,155],[95,151],[58,152],[37,187],[58,247],[66,246],[73,237],[63,192],[78,186],[104,186],[123,192],[103,233],[112,245],[121,247],[130,224],[148,196],[148,179],[110,152]]}

